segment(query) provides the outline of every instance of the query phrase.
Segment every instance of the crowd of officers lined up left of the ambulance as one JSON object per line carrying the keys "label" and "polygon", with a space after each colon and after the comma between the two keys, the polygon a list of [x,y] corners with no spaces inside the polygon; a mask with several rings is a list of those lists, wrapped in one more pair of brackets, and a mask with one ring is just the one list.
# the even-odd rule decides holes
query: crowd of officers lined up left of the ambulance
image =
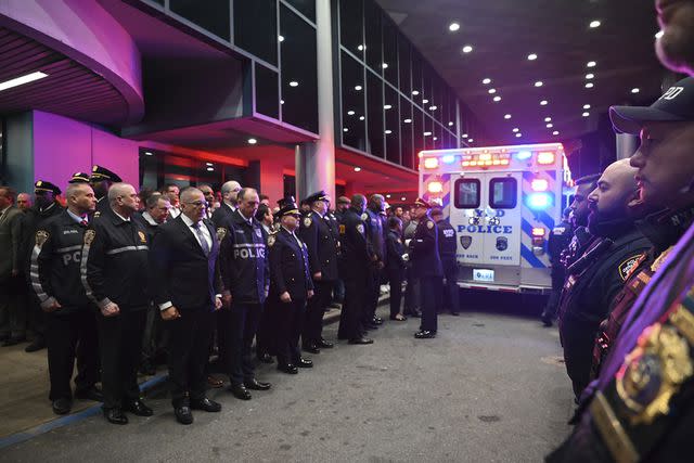
{"label": "crowd of officers lined up left of the ambulance", "polygon": [[[126,412],[152,415],[138,371],[153,374],[165,355],[176,417],[190,424],[192,410],[221,410],[206,395],[222,385],[213,372],[226,373],[230,391],[248,400],[249,389],[271,387],[256,378],[257,361],[275,357],[287,374],[312,368],[301,350],[333,347],[322,335],[331,305],[342,304],[339,339],[372,344],[367,332],[383,323],[376,306],[384,283],[390,319],[403,321],[410,282],[416,338],[436,336],[441,294],[451,295],[458,314],[455,231],[421,198],[411,211],[388,215],[382,195],[342,196],[331,210],[320,191],[301,208],[286,197],[271,210],[267,197],[236,181],[222,184],[220,202],[206,184],[138,193],[102,166],[73,176],[64,205],[61,194],[39,180],[36,204],[22,210],[0,187],[2,336],[4,345],[23,340],[30,305],[27,351],[48,347],[56,414],[68,413],[76,397],[103,401],[114,424],[127,424]],[[414,218],[403,227],[409,213]]]}

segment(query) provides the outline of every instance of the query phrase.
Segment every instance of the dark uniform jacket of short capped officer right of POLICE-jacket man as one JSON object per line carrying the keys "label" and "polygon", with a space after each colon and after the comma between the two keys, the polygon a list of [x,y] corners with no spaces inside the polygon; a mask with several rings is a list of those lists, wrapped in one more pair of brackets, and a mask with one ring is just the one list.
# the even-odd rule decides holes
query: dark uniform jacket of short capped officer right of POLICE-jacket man
{"label": "dark uniform jacket of short capped officer right of POLICE-jacket man", "polygon": [[277,298],[288,292],[293,300],[306,300],[313,290],[309,273],[308,246],[284,228],[268,237],[270,254],[270,294]]}

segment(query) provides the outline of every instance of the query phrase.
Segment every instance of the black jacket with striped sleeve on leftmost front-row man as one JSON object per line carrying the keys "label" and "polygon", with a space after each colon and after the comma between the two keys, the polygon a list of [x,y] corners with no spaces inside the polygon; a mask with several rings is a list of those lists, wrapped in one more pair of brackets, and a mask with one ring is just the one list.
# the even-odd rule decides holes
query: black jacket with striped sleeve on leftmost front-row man
{"label": "black jacket with striped sleeve on leftmost front-row man", "polygon": [[63,210],[43,221],[36,232],[29,272],[31,288],[42,308],[57,300],[62,308],[55,314],[91,307],[80,273],[86,230]]}

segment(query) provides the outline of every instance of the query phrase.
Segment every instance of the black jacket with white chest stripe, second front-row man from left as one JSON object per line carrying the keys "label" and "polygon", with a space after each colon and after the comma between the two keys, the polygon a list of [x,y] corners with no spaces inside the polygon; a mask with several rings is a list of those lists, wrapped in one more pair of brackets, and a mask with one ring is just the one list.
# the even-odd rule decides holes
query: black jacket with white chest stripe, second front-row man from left
{"label": "black jacket with white chest stripe, second front-row man from left", "polygon": [[123,220],[108,208],[95,214],[85,233],[81,276],[87,296],[99,308],[143,309],[150,303],[150,242],[137,221]]}

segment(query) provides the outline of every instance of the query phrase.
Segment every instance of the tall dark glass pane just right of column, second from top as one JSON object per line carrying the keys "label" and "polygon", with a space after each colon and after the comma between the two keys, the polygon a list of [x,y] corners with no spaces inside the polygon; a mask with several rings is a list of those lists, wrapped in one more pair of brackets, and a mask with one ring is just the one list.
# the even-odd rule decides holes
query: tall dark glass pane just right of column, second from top
{"label": "tall dark glass pane just right of column, second from top", "polygon": [[367,151],[364,68],[344,51],[340,56],[343,144]]}

